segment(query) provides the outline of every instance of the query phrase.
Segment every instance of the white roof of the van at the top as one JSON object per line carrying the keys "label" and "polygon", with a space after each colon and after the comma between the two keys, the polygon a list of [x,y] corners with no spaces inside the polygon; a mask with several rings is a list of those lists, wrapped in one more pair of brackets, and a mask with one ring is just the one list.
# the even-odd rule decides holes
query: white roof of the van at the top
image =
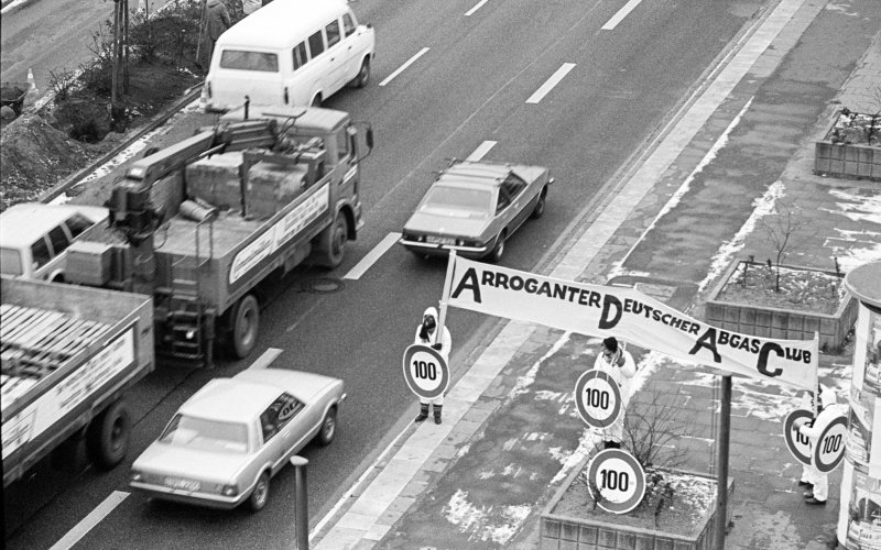
{"label": "white roof of the van at the top", "polygon": [[230,26],[217,40],[217,46],[290,48],[346,11],[345,0],[275,0]]}

